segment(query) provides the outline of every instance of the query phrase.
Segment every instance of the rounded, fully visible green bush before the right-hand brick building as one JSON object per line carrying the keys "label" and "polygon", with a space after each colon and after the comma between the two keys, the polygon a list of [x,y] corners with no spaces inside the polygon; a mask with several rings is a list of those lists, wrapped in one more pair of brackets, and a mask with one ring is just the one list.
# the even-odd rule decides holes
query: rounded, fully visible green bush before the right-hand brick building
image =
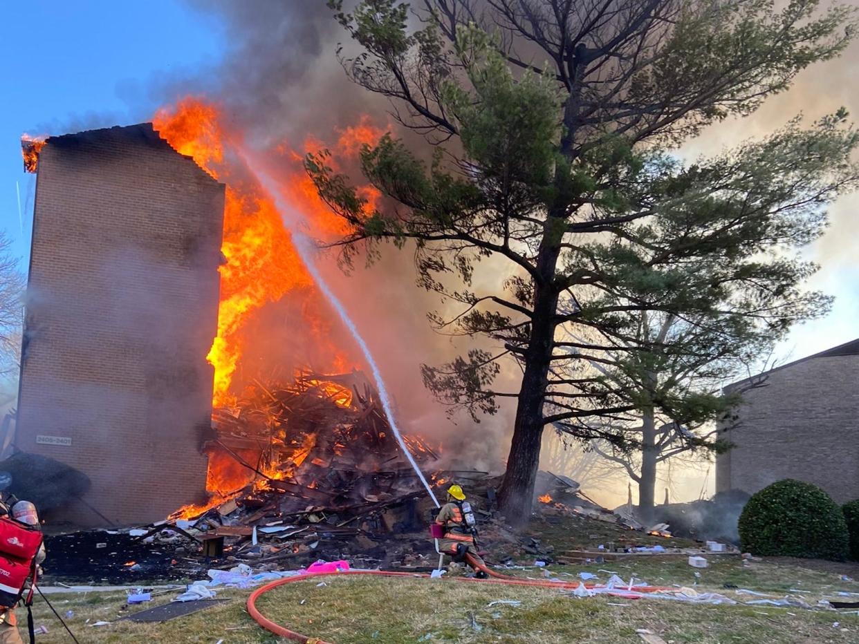
{"label": "rounded, fully visible green bush before the right-hand brick building", "polygon": [[740,544],[752,555],[844,561],[844,513],[822,489],[786,478],[756,492],[740,514]]}

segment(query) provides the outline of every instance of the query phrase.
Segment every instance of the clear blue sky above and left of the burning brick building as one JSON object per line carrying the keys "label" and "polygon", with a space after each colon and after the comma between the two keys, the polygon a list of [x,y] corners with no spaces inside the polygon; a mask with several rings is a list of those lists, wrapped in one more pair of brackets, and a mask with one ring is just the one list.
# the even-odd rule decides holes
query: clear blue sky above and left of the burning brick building
{"label": "clear blue sky above and left of the burning brick building", "polygon": [[144,121],[161,103],[161,84],[217,64],[222,39],[216,21],[171,0],[3,3],[0,228],[23,268],[35,175],[23,172],[21,133],[62,134]]}

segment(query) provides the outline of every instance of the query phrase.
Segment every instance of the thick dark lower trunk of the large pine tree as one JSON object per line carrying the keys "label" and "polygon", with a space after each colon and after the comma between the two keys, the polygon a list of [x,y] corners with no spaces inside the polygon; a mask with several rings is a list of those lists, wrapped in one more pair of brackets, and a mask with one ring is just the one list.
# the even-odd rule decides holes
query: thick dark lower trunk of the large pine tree
{"label": "thick dark lower trunk of the large pine tree", "polygon": [[543,285],[534,290],[531,335],[525,360],[525,373],[519,390],[513,440],[507,457],[507,471],[498,491],[504,516],[514,524],[524,524],[531,517],[534,482],[539,467],[540,443],[543,439],[543,401],[548,384],[549,366],[555,340],[557,289],[553,281],[560,253],[557,242],[546,235],[537,256],[537,269]]}

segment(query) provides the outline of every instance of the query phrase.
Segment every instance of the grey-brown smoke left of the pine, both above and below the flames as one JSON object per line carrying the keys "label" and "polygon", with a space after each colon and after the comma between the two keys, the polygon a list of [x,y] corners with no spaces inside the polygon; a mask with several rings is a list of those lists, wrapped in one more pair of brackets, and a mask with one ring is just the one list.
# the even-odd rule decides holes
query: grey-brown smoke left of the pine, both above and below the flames
{"label": "grey-brown smoke left of the pine, both above and below the flames", "polygon": [[[224,29],[227,52],[216,69],[162,83],[155,91],[164,103],[187,94],[216,102],[228,130],[241,132],[249,148],[267,156],[267,163],[272,149],[295,153],[274,155],[283,164],[279,168],[283,175],[302,172],[301,155],[306,149],[333,147],[344,131],[362,122],[379,131],[394,129],[387,100],[349,82],[341,69],[336,51],[338,42],[348,36],[326,3],[189,3]],[[364,115],[369,115],[369,121]],[[338,158],[338,163],[360,181],[354,150],[348,158]],[[273,174],[277,176],[278,168]],[[308,232],[318,233],[312,225]],[[430,326],[426,313],[446,305],[437,295],[415,286],[410,250],[398,252],[391,246],[371,267],[359,260],[350,276],[338,269],[336,258],[334,251],[323,253],[320,270],[374,352],[401,426],[441,440],[442,452],[454,465],[497,471],[506,456],[508,444],[502,437],[512,430],[514,407],[507,404],[497,416],[479,424],[461,415],[452,420],[423,387],[419,365],[447,361],[463,352],[466,344]],[[311,334],[304,328],[320,314],[343,353],[358,355],[337,316],[326,311],[318,294],[313,289],[295,289],[248,316],[236,382],[241,386],[242,380],[265,380],[297,367],[331,368],[325,364],[326,352],[308,341]],[[357,366],[364,367],[360,361]],[[504,385],[505,391],[516,391],[515,377]]]}

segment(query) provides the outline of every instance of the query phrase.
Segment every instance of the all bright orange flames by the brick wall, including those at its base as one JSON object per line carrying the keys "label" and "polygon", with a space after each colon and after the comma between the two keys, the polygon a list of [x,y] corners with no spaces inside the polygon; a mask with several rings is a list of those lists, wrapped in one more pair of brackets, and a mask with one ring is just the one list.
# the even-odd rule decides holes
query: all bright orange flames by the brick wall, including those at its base
{"label": "all bright orange flames by the brick wall, including those at its base", "polygon": [[[247,171],[241,156],[235,154],[236,149],[241,149],[241,135],[228,130],[218,107],[198,99],[181,100],[174,107],[159,110],[153,125],[180,154],[191,156],[211,176],[227,184],[222,241],[225,261],[220,269],[217,336],[207,356],[215,369],[212,394],[215,407],[236,404],[237,389],[241,386],[236,382],[240,380],[237,370],[242,368],[242,356],[253,347],[255,339],[253,317],[274,302],[292,302],[301,311],[302,339],[312,343],[314,355],[322,356],[325,362],[314,364],[314,368],[342,373],[356,366],[350,349],[344,349],[332,332],[333,316],[324,312],[319,291],[295,251],[271,197]],[[337,133],[332,162],[336,164],[338,158],[355,158],[363,143],[375,143],[381,134],[369,119],[361,118],[356,125]],[[302,151],[319,149],[323,145],[308,137]],[[332,214],[303,172],[302,154],[284,143],[266,150],[265,154],[277,161],[283,197],[306,216],[313,234],[329,237],[347,232],[344,221]],[[362,194],[371,206],[379,196],[369,188],[364,188]],[[253,378],[256,374],[247,377]],[[349,389],[328,381],[320,381],[319,386],[335,404],[348,407],[352,403]],[[252,454],[246,456],[247,461],[257,463]],[[283,471],[273,467],[258,466],[267,477],[284,476]],[[210,501],[202,506],[183,507],[174,518],[195,516],[227,500],[248,480],[253,480],[253,471],[249,472],[232,456],[210,453],[206,485]],[[265,485],[265,478],[259,484]]]}

